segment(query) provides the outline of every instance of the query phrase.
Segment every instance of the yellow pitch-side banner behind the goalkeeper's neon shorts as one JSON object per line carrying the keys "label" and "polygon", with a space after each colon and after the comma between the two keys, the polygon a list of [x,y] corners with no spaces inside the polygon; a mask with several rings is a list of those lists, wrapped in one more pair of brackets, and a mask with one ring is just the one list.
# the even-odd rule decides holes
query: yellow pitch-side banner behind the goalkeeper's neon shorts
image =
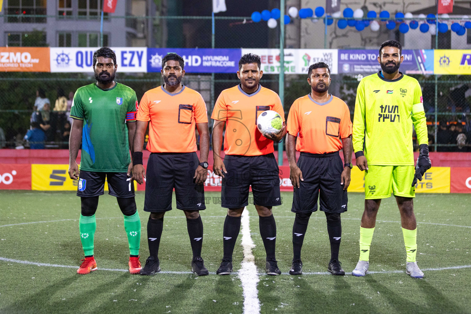
{"label": "yellow pitch-side banner behind the goalkeeper's neon shorts", "polygon": [[[349,192],[365,193],[365,171],[354,167]],[[450,167],[432,167],[417,181],[415,193],[450,193]]]}

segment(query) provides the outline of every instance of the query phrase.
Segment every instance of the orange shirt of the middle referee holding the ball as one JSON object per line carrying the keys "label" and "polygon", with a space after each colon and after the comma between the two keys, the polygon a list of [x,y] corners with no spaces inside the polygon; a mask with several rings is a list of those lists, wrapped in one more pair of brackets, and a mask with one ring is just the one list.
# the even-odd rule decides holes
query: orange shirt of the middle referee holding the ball
{"label": "orange shirt of the middle referee holding the ball", "polygon": [[250,95],[242,90],[240,84],[221,92],[211,119],[226,122],[226,155],[260,156],[273,153],[273,141],[257,129],[257,118],[266,110],[276,111],[284,121],[280,97],[260,84],[259,89]]}

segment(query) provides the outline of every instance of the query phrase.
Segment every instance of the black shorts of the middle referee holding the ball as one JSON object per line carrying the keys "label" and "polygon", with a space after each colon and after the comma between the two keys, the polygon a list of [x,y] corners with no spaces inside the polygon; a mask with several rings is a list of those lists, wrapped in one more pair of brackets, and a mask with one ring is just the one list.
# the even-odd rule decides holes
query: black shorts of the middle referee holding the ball
{"label": "black shorts of the middle referee holding the ball", "polygon": [[222,178],[222,207],[235,209],[247,206],[251,185],[254,205],[281,205],[280,177],[273,153],[260,156],[226,155],[224,166],[227,173]]}

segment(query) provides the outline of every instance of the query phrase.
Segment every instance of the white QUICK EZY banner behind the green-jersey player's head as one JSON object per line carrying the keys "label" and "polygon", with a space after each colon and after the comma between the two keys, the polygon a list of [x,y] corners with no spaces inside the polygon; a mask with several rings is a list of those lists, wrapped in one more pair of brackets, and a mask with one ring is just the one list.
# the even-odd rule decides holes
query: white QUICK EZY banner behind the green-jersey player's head
{"label": "white QUICK EZY banner behind the green-jersey player's head", "polygon": [[[147,72],[147,48],[111,47],[116,53],[118,72]],[[50,48],[51,72],[93,72],[91,48]]]}

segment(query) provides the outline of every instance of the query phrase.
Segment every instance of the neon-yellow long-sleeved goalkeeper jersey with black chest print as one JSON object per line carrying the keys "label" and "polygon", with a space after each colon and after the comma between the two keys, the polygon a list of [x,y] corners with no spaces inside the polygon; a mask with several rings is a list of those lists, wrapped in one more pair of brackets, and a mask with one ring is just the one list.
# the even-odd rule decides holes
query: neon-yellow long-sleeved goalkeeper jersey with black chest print
{"label": "neon-yellow long-sleeved goalkeeper jersey with black chest print", "polygon": [[[400,72],[399,72],[400,73]],[[353,118],[353,150],[370,165],[414,165],[412,125],[419,144],[428,144],[422,89],[404,75],[387,80],[381,72],[360,81]]]}

